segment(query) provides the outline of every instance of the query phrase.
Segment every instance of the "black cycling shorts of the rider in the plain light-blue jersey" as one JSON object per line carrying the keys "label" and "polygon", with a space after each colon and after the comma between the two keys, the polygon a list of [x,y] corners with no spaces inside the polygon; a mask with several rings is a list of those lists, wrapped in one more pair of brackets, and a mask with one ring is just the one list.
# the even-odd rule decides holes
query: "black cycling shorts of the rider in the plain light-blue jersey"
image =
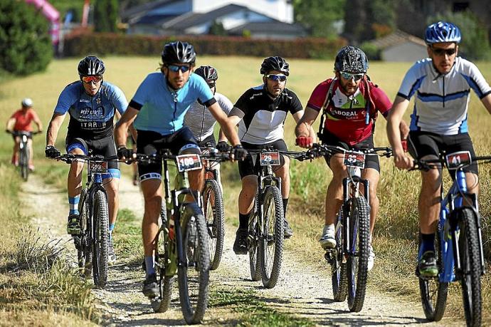
{"label": "black cycling shorts of the rider in the plain light-blue jersey", "polygon": [[[179,151],[184,148],[196,148],[196,153],[199,151],[199,146],[194,139],[191,130],[184,126],[175,133],[169,135],[162,135],[151,130],[138,130],[137,137],[137,152],[144,153],[146,155],[153,155],[162,149],[169,149],[172,155],[179,155]],[[144,163],[138,164],[139,180],[150,179],[162,179],[162,162]]]}

